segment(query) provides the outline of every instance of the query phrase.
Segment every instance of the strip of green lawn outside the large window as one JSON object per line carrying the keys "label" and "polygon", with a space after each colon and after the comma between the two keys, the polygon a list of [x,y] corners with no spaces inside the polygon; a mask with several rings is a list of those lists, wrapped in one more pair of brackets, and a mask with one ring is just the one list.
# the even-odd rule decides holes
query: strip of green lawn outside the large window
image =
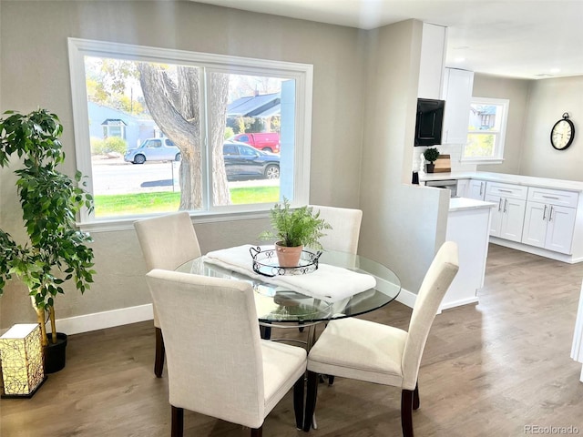
{"label": "strip of green lawn outside the large window", "polygon": [[[280,200],[279,187],[230,188],[233,205],[246,203],[275,203]],[[154,193],[118,194],[95,196],[96,217],[124,214],[148,214],[150,212],[176,211],[180,193],[159,191]]]}

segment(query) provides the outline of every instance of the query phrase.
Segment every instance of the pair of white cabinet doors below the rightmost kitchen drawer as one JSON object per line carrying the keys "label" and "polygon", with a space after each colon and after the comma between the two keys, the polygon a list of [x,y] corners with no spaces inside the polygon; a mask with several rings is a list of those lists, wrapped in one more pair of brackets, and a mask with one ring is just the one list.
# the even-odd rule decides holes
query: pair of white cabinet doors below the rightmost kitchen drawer
{"label": "pair of white cabinet doors below the rightmost kitchen drawer", "polygon": [[522,242],[570,254],[577,208],[529,201]]}

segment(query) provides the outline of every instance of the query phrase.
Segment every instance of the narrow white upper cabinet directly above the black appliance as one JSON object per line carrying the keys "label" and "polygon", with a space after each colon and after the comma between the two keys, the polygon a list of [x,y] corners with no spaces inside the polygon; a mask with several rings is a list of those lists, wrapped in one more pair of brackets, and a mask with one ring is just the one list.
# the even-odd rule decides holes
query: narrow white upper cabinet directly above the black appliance
{"label": "narrow white upper cabinet directly above the black appliance", "polygon": [[429,23],[423,24],[417,97],[441,98],[446,41],[447,27]]}

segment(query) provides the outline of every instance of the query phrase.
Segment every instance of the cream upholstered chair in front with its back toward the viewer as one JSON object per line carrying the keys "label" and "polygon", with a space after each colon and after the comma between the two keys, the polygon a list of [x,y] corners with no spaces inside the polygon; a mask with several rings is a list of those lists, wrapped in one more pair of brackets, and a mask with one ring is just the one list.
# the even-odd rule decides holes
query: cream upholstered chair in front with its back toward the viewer
{"label": "cream upholstered chair in front with its back toward the viewer", "polygon": [[147,280],[166,341],[173,437],[182,436],[184,409],[261,436],[292,387],[302,428],[306,351],[261,340],[251,284],[160,269]]}

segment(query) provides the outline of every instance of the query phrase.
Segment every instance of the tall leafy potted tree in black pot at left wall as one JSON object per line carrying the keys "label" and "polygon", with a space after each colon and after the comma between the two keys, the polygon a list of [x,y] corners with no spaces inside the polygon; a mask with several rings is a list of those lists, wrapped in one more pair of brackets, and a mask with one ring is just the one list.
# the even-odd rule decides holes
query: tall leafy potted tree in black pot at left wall
{"label": "tall leafy potted tree in black pot at left wall", "polygon": [[[56,331],[56,296],[65,293],[67,281],[83,293],[95,274],[93,249],[87,246],[92,239],[75,223],[80,208],[93,208],[93,198],[82,188],[80,172],[72,179],[56,169],[65,153],[59,140],[63,127],[55,114],[38,109],[27,115],[7,111],[4,116],[0,118],[0,167],[8,166],[10,158],[21,160],[15,170],[15,188],[26,238],[17,243],[0,229],[0,296],[13,276],[26,284],[50,373],[65,366],[66,334]],[[47,336],[49,320],[51,335]]]}

